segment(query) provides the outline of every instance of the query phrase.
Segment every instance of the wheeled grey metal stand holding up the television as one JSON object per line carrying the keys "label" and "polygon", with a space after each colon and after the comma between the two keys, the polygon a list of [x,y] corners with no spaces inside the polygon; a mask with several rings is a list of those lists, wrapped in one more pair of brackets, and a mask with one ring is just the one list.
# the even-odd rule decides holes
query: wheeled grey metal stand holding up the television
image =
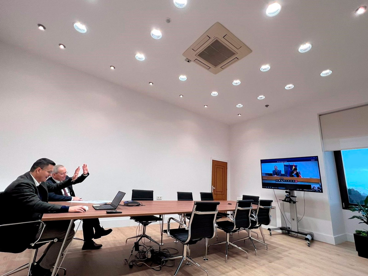
{"label": "wheeled grey metal stand holding up the television", "polygon": [[[286,227],[277,227],[277,228],[268,228],[268,231],[270,231],[270,236],[272,236],[271,231],[276,230],[282,230],[283,233],[294,233],[294,234],[300,234],[302,236],[305,236],[304,240],[307,241],[308,247],[311,246],[311,241],[314,238],[314,234],[312,232],[304,233],[299,231],[298,227],[298,215],[297,215],[297,201],[295,201],[296,196],[294,194],[293,190],[286,191],[286,195],[284,199],[279,199],[283,202],[288,202],[290,204],[290,222],[291,222],[291,228],[289,226]],[[280,210],[281,211],[281,210]]]}

